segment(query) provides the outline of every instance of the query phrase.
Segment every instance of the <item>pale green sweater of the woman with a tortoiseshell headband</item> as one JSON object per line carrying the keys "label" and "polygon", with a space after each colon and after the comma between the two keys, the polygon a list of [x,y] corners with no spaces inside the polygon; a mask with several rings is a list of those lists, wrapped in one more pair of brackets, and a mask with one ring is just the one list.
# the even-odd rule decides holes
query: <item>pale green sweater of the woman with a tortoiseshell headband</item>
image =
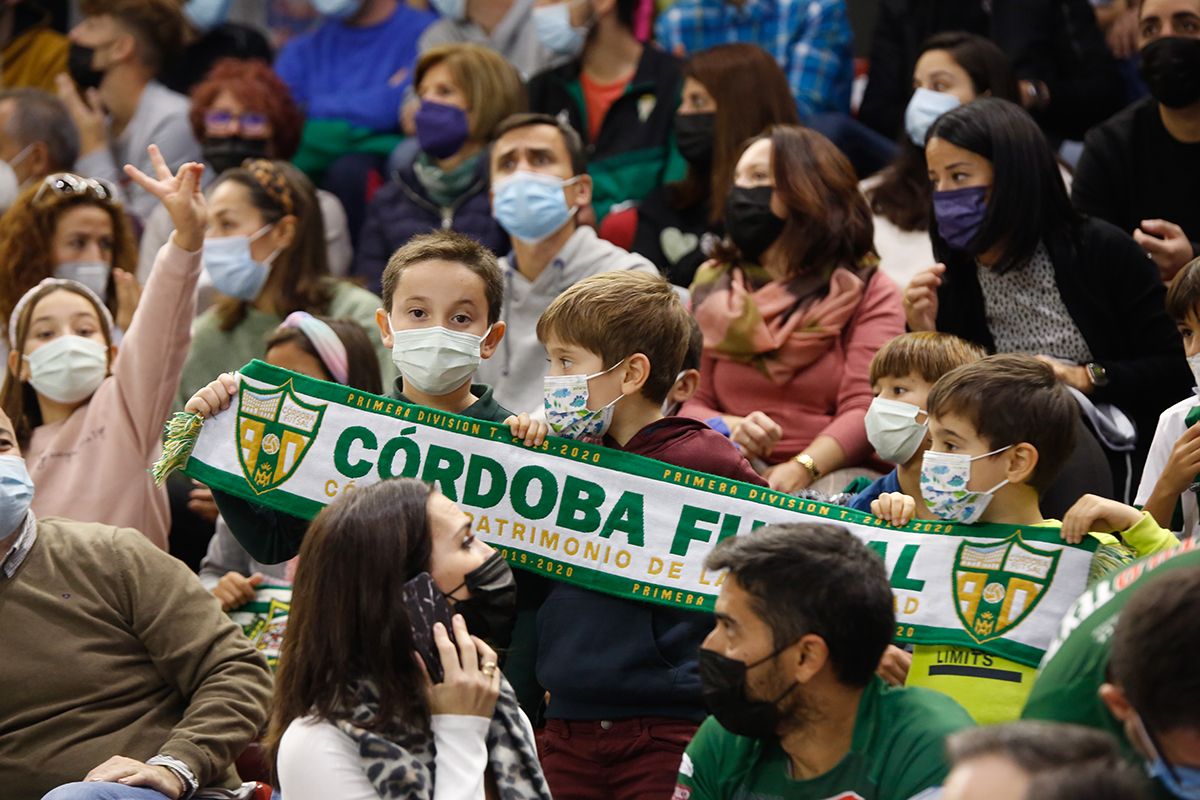
{"label": "pale green sweater of the woman with a tortoiseshell headband", "polygon": [[[383,306],[376,295],[346,281],[334,281],[332,297],[322,313],[334,319],[353,319],[374,342],[379,356],[383,385],[396,377],[391,351],[379,339],[374,313]],[[196,318],[192,325],[192,349],[184,365],[179,381],[175,410],[180,410],[199,389],[208,385],[222,372],[233,372],[253,359],[262,359],[266,339],[280,326],[283,317],[268,314],[254,307],[246,308],[246,317],[232,331],[222,331],[216,309],[209,308]]]}

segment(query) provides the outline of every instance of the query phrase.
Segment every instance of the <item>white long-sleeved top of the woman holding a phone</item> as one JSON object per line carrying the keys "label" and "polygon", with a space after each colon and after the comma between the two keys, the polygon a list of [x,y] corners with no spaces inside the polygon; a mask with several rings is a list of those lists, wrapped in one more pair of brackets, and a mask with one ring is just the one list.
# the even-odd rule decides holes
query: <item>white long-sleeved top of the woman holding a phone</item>
{"label": "white long-sleeved top of the woman holding a phone", "polygon": [[[533,741],[524,712],[521,721]],[[484,800],[487,769],[487,717],[436,714],[437,750],[433,800]],[[362,771],[358,744],[336,724],[301,717],[280,739],[280,793],[287,800],[379,800]]]}

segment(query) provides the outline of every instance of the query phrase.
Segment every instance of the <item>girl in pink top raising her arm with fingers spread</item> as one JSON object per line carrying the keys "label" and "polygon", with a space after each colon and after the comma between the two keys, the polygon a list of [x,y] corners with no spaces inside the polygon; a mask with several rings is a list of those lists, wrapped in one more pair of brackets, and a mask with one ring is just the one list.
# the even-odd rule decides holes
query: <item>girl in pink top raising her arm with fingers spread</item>
{"label": "girl in pink top raising her arm with fingers spread", "polygon": [[[128,166],[126,174],[167,206],[175,233],[158,253],[121,357],[100,296],[83,282],[48,277],[11,309],[2,405],[37,487],[35,515],[133,528],[166,548],[167,493],[149,467],[191,342],[206,211],[200,164],[172,175],[154,145],[150,161],[155,178]],[[40,200],[67,193],[70,181],[62,184]],[[102,191],[80,187],[77,194]]]}

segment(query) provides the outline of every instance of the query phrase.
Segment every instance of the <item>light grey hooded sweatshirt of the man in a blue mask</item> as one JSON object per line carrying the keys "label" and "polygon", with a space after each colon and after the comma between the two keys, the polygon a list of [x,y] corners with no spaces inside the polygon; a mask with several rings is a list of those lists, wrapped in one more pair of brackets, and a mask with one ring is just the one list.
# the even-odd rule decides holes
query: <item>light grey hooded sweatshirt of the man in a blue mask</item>
{"label": "light grey hooded sweatshirt of the man in a blue mask", "polygon": [[476,380],[496,391],[496,399],[516,411],[541,408],[541,379],[546,375],[546,349],[538,341],[538,318],[570,287],[583,278],[618,270],[659,271],[646,258],[606,242],[592,228],[580,227],[546,269],[530,281],[510,254],[504,270],[504,306],[508,324],[500,347],[479,365]]}

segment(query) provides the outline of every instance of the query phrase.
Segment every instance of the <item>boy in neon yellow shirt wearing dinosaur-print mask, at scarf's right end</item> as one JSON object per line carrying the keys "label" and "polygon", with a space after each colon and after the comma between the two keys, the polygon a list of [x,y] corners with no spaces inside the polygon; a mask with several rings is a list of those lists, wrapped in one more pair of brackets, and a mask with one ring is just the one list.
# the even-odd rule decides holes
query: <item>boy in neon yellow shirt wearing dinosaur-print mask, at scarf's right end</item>
{"label": "boy in neon yellow shirt wearing dinosaur-print mask, at scarf's right end", "polygon": [[[1093,536],[1103,546],[1098,570],[1177,545],[1148,513],[1096,495],[1080,498],[1062,522],[1043,517],[1038,498],[1075,447],[1079,407],[1054,371],[1033,356],[992,355],[952,369],[934,384],[925,408],[930,446],[922,458],[920,494],[932,517],[956,525],[1061,528],[1070,543]],[[890,504],[893,513],[907,506],[910,519],[916,506],[901,493],[881,495],[876,503]],[[1112,533],[1121,534],[1124,548],[1115,547],[1120,542]],[[980,724],[1016,718],[1036,669],[978,652],[918,645],[906,685],[949,694]],[[970,664],[972,672],[937,669],[946,663]]]}

